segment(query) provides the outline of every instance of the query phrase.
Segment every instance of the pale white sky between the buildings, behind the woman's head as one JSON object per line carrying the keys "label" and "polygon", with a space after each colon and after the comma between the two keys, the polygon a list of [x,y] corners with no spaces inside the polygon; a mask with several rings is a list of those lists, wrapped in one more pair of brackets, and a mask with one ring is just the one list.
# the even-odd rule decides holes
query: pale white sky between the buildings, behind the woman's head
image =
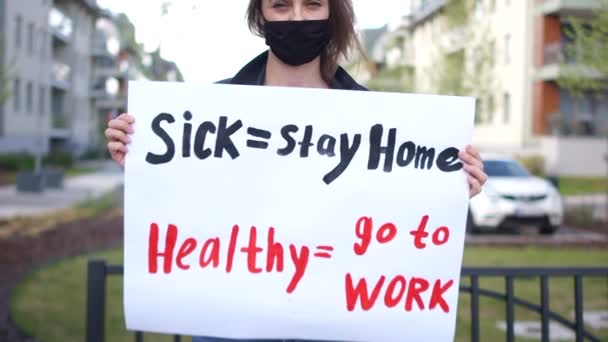
{"label": "pale white sky between the buildings, behind the woman's head", "polygon": [[[232,77],[267,49],[245,24],[247,0],[174,0],[161,17],[162,0],[98,0],[101,7],[123,12],[136,27],[146,50],[161,44],[186,81],[211,83]],[[359,28],[380,27],[407,13],[409,0],[354,0]],[[212,4],[212,5],[209,5]],[[205,7],[207,6],[207,7]]]}

